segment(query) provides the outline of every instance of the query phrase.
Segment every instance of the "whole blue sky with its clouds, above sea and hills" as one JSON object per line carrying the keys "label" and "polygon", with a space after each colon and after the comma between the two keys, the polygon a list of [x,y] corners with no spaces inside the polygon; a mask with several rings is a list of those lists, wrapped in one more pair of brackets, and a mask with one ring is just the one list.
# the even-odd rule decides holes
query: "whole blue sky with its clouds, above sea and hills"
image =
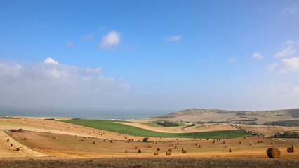
{"label": "whole blue sky with its clouds, above sea and hills", "polygon": [[0,106],[299,107],[298,1],[0,1]]}

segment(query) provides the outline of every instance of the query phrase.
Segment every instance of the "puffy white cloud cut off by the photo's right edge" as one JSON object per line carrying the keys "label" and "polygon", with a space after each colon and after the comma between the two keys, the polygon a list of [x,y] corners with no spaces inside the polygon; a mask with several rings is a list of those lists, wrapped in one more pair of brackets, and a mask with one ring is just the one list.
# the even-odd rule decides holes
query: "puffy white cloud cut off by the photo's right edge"
{"label": "puffy white cloud cut off by the photo's right edge", "polygon": [[299,71],[299,57],[281,60],[280,73],[297,72]]}

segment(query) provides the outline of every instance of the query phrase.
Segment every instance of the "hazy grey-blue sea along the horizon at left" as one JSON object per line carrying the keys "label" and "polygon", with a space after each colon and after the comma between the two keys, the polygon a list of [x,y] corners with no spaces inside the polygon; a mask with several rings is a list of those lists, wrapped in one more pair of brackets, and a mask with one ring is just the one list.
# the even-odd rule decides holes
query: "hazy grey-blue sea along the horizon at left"
{"label": "hazy grey-blue sea along the horizon at left", "polygon": [[135,120],[172,112],[175,111],[165,109],[0,107],[0,116],[65,117],[103,120]]}

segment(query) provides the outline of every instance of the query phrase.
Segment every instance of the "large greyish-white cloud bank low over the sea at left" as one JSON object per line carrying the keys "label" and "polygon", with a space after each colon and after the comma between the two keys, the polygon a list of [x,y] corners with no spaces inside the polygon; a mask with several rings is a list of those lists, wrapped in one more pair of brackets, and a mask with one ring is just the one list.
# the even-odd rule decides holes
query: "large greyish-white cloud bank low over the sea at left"
{"label": "large greyish-white cloud bank low over the sea at left", "polygon": [[124,78],[104,76],[100,67],[44,62],[0,62],[0,106],[114,106],[130,92]]}

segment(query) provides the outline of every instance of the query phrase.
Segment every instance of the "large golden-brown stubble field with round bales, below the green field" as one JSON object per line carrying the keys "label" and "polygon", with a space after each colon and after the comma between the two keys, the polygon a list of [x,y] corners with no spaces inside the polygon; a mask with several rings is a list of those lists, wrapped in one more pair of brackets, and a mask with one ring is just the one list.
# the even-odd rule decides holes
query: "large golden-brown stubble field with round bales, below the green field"
{"label": "large golden-brown stubble field with round bales, below the green field", "polygon": [[[164,156],[166,151],[171,148],[171,156],[267,158],[267,148],[275,147],[281,150],[281,158],[299,159],[298,151],[295,151],[295,153],[286,152],[286,148],[291,147],[293,144],[263,137],[223,139],[215,141],[215,144],[213,139],[202,139],[201,141],[199,139],[190,141],[158,141],[156,144],[155,141],[147,143],[114,141],[111,143],[103,139],[88,137],[84,139],[83,137],[42,132],[11,132],[9,134],[11,134],[13,139],[35,151],[62,157],[152,156],[157,151],[157,148],[161,149],[159,156]],[[24,137],[27,137],[27,140],[24,140]],[[54,139],[54,137],[58,139]],[[81,141],[82,139],[84,141]],[[96,141],[96,144],[93,144],[93,141]],[[223,144],[223,141],[225,141],[225,144]],[[239,141],[242,144],[239,144]],[[263,143],[258,143],[258,141],[263,141]],[[274,141],[273,145],[271,144],[272,141]],[[250,146],[250,143],[253,143],[253,146]],[[201,148],[199,148],[199,145]],[[149,148],[149,146],[152,147]],[[178,148],[175,149],[175,146]],[[227,146],[227,148],[224,148],[224,146]],[[135,149],[135,147],[138,148]],[[185,148],[187,153],[182,153],[182,148]],[[229,148],[234,148],[234,152],[230,153]],[[142,153],[138,153],[139,149],[142,150]],[[128,150],[129,153],[125,153],[125,150]]]}

